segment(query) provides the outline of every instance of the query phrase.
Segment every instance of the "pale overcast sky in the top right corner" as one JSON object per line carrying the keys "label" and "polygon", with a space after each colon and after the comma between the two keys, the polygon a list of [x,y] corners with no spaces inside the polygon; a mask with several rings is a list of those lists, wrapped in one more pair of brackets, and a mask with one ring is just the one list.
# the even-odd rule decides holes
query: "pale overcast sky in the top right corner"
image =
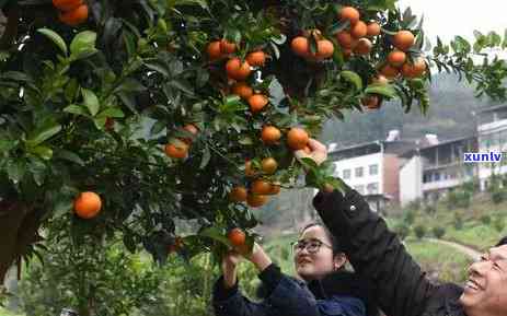
{"label": "pale overcast sky in the top right corner", "polygon": [[[506,0],[400,0],[404,9],[411,7],[414,14],[424,14],[423,28],[435,45],[437,35],[449,42],[454,35],[473,40],[473,31],[495,31],[504,37],[507,28]],[[403,12],[403,11],[402,11]]]}

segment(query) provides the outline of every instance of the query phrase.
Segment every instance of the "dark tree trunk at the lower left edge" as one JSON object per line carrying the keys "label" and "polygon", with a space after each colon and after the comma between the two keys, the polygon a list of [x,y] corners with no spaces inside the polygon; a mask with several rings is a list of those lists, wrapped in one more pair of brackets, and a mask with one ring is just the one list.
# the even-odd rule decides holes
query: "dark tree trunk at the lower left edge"
{"label": "dark tree trunk at the lower left edge", "polygon": [[23,256],[28,246],[39,239],[41,215],[33,206],[0,201],[0,280],[9,268]]}

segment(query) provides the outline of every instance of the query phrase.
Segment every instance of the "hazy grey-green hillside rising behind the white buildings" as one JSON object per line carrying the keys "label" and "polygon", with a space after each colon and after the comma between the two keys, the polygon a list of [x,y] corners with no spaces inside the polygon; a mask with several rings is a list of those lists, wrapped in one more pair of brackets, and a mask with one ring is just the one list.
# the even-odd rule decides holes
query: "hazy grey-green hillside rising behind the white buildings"
{"label": "hazy grey-green hillside rising behind the white buildings", "polygon": [[486,98],[474,97],[473,89],[465,81],[450,74],[435,75],[429,90],[430,107],[423,116],[417,105],[404,114],[399,102],[383,104],[380,110],[345,113],[345,120],[330,120],[321,139],[349,145],[372,139],[384,139],[389,130],[399,129],[402,138],[416,139],[424,133],[436,133],[439,139],[450,139],[474,132],[473,110],[494,105]]}

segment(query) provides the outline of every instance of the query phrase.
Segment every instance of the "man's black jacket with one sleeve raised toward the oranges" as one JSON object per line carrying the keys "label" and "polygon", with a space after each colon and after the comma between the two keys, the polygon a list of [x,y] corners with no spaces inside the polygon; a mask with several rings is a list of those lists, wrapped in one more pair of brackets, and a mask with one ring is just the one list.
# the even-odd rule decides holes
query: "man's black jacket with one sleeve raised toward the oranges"
{"label": "man's black jacket with one sleeve raised toward the oranges", "polygon": [[354,269],[375,284],[380,308],[389,316],[465,316],[458,302],[463,289],[431,283],[361,195],[345,192],[319,192],[313,206]]}

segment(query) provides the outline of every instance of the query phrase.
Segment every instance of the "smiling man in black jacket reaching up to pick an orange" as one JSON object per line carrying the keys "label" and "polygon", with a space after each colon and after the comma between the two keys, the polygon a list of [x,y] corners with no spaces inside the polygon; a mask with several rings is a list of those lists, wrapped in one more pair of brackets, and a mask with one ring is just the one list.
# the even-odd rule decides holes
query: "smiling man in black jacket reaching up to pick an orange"
{"label": "smiling man in black jacket reaching up to pick an orange", "polygon": [[[327,155],[311,140],[312,152],[297,156],[318,164]],[[357,191],[319,192],[313,206],[330,231],[344,241],[355,270],[375,284],[377,302],[389,316],[507,316],[507,237],[470,266],[464,288],[431,283],[385,222]]]}

